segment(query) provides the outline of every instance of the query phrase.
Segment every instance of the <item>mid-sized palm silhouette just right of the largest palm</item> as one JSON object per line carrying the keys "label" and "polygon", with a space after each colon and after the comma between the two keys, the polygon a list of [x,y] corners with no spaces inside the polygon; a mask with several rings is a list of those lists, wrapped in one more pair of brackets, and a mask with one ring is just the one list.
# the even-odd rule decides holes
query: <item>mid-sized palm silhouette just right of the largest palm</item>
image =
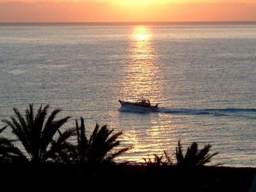
{"label": "mid-sized palm silhouette just right of the largest palm", "polygon": [[115,157],[131,149],[131,147],[125,147],[113,151],[115,147],[120,145],[120,141],[117,141],[117,138],[122,135],[122,132],[117,132],[111,136],[113,129],[109,130],[107,125],[100,128],[99,124],[96,124],[88,140],[83,117],[81,117],[80,126],[76,120],[76,131],[77,154],[73,157],[76,157],[79,163],[113,163]]}

